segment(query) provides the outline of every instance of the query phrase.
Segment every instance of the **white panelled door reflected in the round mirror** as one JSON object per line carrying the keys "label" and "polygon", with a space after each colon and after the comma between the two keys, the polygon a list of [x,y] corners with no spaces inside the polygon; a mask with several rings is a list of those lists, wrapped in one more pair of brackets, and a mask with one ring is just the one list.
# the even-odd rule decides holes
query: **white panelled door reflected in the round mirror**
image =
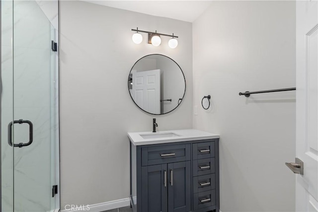
{"label": "white panelled door reflected in the round mirror", "polygon": [[132,73],[132,97],[145,111],[160,114],[160,70]]}

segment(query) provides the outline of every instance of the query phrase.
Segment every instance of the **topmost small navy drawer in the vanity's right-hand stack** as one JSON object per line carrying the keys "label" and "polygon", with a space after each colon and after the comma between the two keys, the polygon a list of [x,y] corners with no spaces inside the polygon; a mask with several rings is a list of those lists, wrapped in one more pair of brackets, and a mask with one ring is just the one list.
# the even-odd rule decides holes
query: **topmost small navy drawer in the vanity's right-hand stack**
{"label": "topmost small navy drawer in the vanity's right-hand stack", "polygon": [[193,160],[209,158],[215,156],[215,144],[212,142],[202,142],[192,144]]}

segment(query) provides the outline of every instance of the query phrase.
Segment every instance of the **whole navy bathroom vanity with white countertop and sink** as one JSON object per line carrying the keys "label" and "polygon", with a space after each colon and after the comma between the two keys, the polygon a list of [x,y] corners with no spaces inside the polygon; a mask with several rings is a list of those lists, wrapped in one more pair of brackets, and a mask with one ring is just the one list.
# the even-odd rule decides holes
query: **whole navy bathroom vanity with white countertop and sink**
{"label": "whole navy bathroom vanity with white countertop and sink", "polygon": [[219,212],[219,135],[128,133],[134,212]]}

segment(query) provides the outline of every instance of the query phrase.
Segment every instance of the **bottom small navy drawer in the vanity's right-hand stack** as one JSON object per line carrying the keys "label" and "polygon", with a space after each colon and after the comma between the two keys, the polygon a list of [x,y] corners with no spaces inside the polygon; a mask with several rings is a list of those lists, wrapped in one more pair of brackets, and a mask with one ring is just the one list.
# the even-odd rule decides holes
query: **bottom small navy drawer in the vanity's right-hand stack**
{"label": "bottom small navy drawer in the vanity's right-hand stack", "polygon": [[198,210],[216,204],[215,190],[193,194],[193,209]]}

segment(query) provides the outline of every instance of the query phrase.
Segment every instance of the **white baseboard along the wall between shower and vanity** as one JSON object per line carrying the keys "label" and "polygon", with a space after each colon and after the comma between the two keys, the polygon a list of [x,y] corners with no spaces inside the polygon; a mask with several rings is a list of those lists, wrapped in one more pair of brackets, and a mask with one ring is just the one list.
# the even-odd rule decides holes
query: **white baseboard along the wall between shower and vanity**
{"label": "white baseboard along the wall between shower and vanity", "polygon": [[112,210],[112,209],[117,209],[117,208],[122,208],[130,206],[130,199],[125,198],[121,200],[114,200],[110,202],[105,202],[105,203],[97,203],[93,205],[85,205],[85,207],[79,208],[78,209],[71,209],[71,206],[67,205],[66,209],[62,210],[62,212],[83,212],[83,211],[89,211],[89,212],[103,212],[107,210]]}

